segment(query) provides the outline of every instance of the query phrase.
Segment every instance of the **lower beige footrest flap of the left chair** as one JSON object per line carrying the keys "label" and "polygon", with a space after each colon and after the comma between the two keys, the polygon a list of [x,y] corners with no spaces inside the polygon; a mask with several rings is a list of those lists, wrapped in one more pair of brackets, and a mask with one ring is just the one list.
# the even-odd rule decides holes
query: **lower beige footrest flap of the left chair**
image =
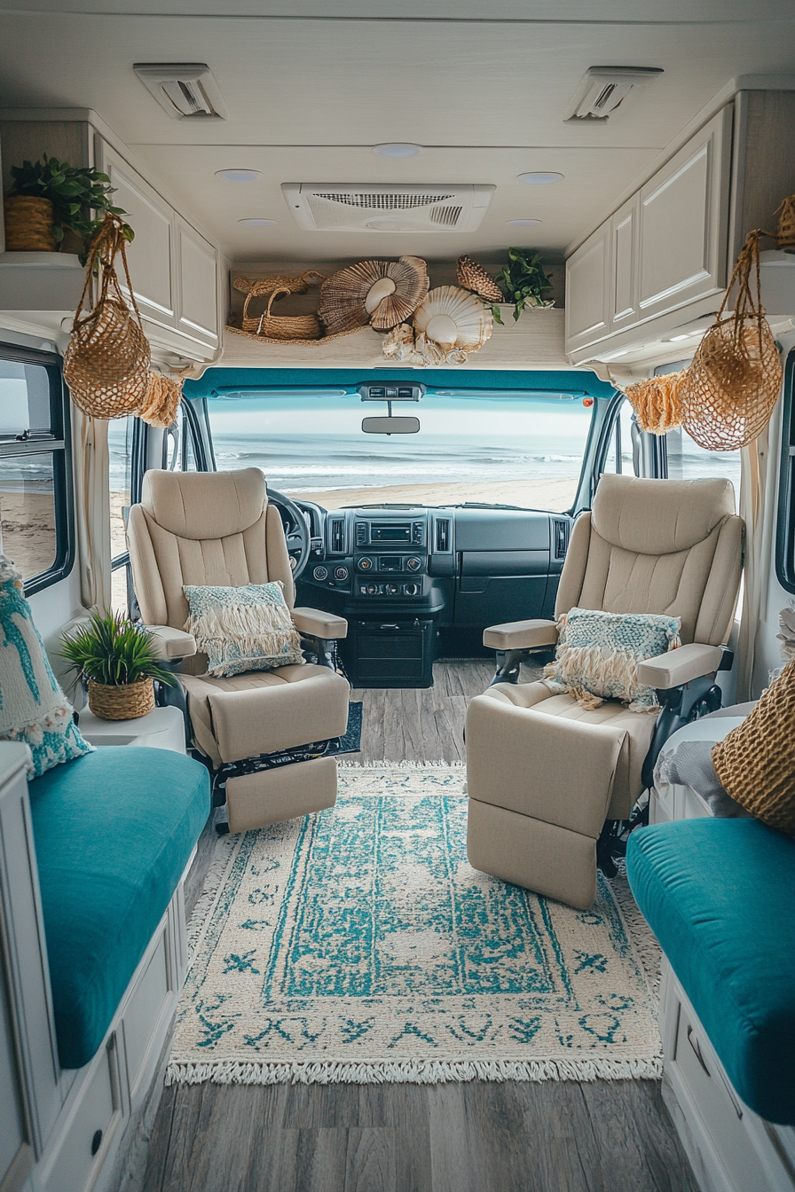
{"label": "lower beige footrest flap of the left chair", "polygon": [[334,757],[228,778],[228,831],[248,832],[297,815],[311,815],[324,807],[334,807],[336,797],[337,763]]}

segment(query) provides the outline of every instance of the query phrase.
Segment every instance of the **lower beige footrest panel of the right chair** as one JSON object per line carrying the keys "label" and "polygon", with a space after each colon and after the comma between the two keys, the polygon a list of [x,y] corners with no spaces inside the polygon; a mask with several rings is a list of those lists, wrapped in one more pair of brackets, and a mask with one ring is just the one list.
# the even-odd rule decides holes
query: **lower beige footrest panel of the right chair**
{"label": "lower beige footrest panel of the right chair", "polygon": [[588,911],[596,898],[596,840],[470,799],[466,849],[484,874]]}

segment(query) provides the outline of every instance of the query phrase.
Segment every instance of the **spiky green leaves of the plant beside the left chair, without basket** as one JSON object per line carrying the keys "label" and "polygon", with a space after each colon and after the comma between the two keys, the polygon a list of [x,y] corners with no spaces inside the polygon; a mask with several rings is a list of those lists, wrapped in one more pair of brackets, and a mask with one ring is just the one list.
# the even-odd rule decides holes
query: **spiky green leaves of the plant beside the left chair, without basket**
{"label": "spiky green leaves of the plant beside the left chair, without basket", "polygon": [[58,653],[82,679],[106,687],[125,687],[144,678],[156,678],[169,687],[175,682],[161,665],[151,633],[110,609],[104,613],[94,609],[87,626],[63,639]]}

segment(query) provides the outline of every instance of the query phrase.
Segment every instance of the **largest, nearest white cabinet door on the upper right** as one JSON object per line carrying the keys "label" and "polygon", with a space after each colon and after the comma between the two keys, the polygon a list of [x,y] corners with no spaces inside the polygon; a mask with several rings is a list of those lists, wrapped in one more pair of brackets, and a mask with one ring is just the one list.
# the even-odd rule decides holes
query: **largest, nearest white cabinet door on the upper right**
{"label": "largest, nearest white cabinet door on the upper right", "polygon": [[731,136],[729,106],[640,191],[644,321],[726,286]]}

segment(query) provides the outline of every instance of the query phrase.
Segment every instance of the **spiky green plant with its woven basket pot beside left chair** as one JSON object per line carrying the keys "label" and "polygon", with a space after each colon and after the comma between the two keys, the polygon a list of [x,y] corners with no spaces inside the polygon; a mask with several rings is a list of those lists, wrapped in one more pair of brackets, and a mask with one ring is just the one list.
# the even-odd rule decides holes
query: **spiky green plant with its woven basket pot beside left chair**
{"label": "spiky green plant with its woven basket pot beside left chair", "polygon": [[174,684],[154,638],[123,613],[94,609],[88,625],[64,637],[66,658],[88,688],[88,707],[103,720],[133,720],[155,707],[154,679]]}

